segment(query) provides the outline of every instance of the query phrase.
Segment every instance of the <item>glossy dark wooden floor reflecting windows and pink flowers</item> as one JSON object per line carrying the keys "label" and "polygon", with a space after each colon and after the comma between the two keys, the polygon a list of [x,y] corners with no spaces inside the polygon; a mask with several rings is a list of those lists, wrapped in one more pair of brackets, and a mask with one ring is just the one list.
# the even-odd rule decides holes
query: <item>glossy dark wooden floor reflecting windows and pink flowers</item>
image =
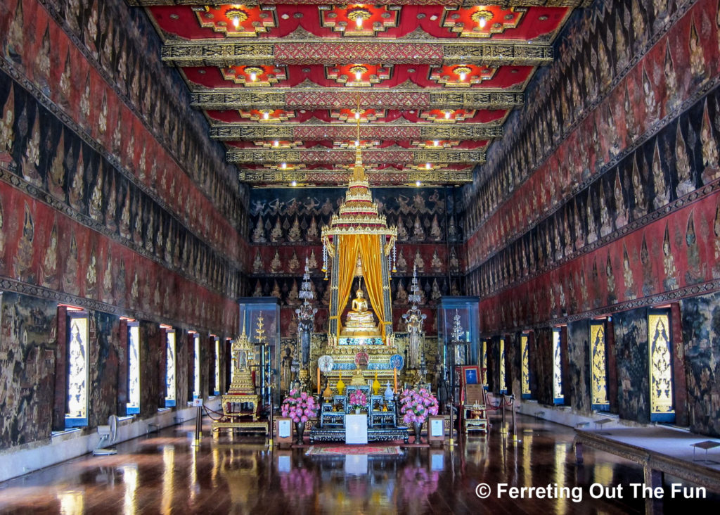
{"label": "glossy dark wooden floor reflecting windows and pink flowers", "polygon": [[[573,431],[518,418],[518,439],[500,436],[494,420],[488,437],[462,439],[449,449],[410,447],[401,456],[306,457],[307,449],[275,449],[263,441],[225,433],[192,447],[193,426],[168,428],[117,446],[118,454],[85,456],[0,484],[0,513],[43,514],[626,514],[644,513],[646,501],[629,486],[642,468],[586,449],[576,465]],[[665,483],[672,482],[666,478]],[[677,483],[678,481],[675,481]],[[476,488],[487,483],[489,498]],[[498,498],[498,483],[568,487],[565,498]],[[623,498],[593,499],[599,483]],[[580,487],[575,502],[572,488]],[[595,487],[598,488],[598,487]],[[666,491],[669,488],[666,488]],[[669,493],[668,493],[669,496]],[[703,501],[667,499],[666,513],[716,511],[720,496]],[[576,496],[577,498],[577,496]]]}

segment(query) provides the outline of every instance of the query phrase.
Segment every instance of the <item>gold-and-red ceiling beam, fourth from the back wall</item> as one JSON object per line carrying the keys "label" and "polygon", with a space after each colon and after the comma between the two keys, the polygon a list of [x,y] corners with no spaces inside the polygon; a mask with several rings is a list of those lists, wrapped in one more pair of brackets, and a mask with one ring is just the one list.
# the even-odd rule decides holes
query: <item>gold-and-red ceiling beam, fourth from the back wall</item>
{"label": "gold-and-red ceiling beam, fourth from the back wall", "polygon": [[[196,86],[197,87],[197,86]],[[200,109],[513,109],[523,104],[522,91],[457,88],[244,88],[194,91],[193,107]],[[356,99],[359,98],[359,101]]]}

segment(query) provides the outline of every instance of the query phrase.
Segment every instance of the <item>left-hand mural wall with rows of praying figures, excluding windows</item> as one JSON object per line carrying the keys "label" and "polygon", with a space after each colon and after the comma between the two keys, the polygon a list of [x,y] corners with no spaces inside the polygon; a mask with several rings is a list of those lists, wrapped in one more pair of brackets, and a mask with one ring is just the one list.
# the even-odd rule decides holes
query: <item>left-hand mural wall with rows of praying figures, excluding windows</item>
{"label": "left-hand mural wall with rows of praying figures, excluding windows", "polygon": [[[248,191],[222,145],[207,137],[181,77],[163,66],[142,9],[6,1],[0,48],[5,449],[62,427],[60,303],[89,313],[91,427],[125,414],[121,316],[145,328],[142,374],[151,388],[143,390],[142,416],[163,405],[158,323],[205,339],[236,333]],[[192,354],[183,339],[177,344],[184,406]]]}

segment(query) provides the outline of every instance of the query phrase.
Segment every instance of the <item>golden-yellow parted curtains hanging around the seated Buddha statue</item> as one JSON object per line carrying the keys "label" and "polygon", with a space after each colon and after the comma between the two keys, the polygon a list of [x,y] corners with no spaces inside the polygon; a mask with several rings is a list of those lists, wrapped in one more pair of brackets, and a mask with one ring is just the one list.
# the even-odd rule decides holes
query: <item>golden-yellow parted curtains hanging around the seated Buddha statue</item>
{"label": "golden-yellow parted curtains hanging around the seated Buddha statue", "polygon": [[370,305],[379,321],[380,334],[385,337],[383,320],[384,303],[382,298],[382,245],[377,234],[343,235],[338,238],[338,334],[342,333],[342,313],[350,300],[355,265],[360,253],[364,269]]}

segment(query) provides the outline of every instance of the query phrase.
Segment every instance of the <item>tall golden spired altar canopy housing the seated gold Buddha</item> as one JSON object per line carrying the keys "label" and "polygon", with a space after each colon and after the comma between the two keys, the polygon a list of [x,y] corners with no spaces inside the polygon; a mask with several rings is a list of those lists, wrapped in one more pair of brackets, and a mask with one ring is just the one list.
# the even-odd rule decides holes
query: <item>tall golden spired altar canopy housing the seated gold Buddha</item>
{"label": "tall golden spired altar canopy housing the seated gold Buddha", "polygon": [[[390,356],[397,352],[390,271],[396,237],[396,228],[387,225],[372,200],[358,148],[345,201],[322,230],[323,272],[328,271],[328,259],[332,270],[325,349],[333,357],[333,370],[325,375],[332,383],[344,374],[353,376],[354,385],[361,385],[376,372],[381,382],[393,380]],[[363,364],[355,363],[359,351],[367,355]]]}

